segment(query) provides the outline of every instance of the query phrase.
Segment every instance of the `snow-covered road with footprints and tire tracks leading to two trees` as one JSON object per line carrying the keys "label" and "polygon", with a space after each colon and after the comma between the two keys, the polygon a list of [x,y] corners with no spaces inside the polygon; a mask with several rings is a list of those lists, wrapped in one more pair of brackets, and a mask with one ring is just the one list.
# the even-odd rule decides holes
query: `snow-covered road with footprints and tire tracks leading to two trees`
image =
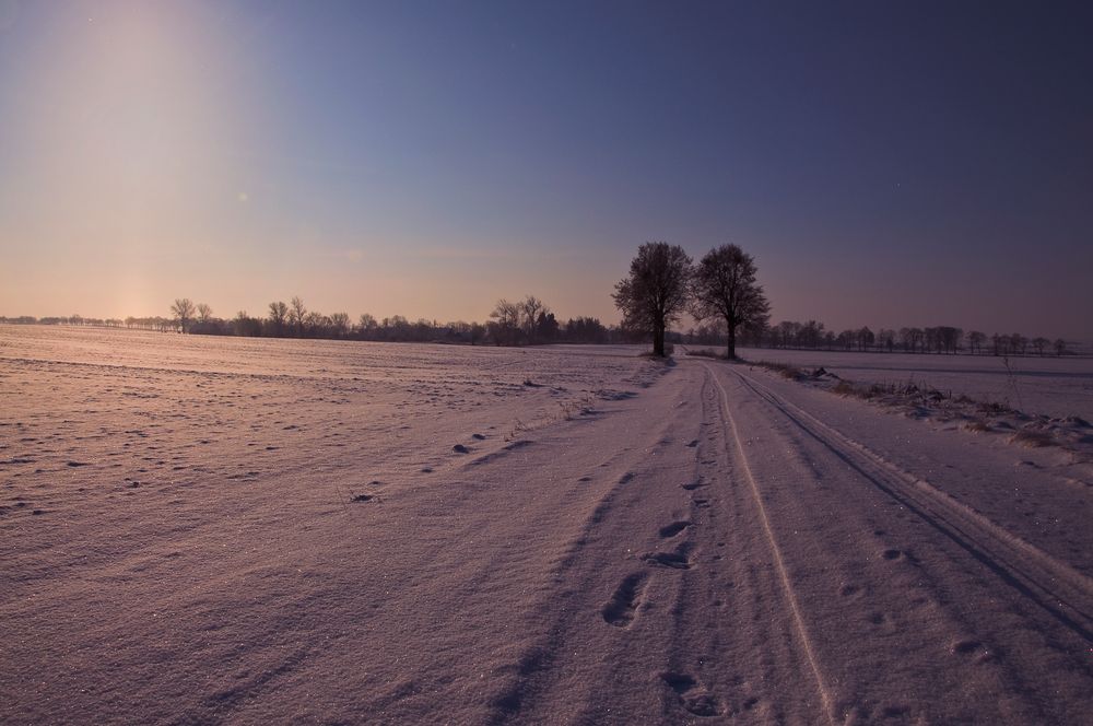
{"label": "snow-covered road with footprints and tire tracks leading to two trees", "polygon": [[1084,722],[1088,487],[860,406],[860,438],[904,442],[879,453],[808,410],[843,399],[747,368],[673,375],[631,411],[656,424],[621,440],[637,457],[608,467],[500,721]]}

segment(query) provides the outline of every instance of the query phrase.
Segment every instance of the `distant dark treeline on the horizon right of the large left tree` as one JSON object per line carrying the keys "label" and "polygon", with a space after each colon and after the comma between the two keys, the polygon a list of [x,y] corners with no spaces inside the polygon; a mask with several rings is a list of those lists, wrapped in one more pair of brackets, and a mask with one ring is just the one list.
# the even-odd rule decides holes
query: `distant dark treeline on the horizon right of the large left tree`
{"label": "distant dark treeline on the horizon right of the large left tree", "polygon": [[[724,326],[704,325],[678,335],[677,342],[720,344],[725,340]],[[1020,332],[987,336],[978,330],[965,332],[954,326],[933,328],[869,328],[827,330],[823,323],[783,320],[764,326],[762,330],[745,330],[744,346],[752,348],[796,348],[809,350],[856,350],[903,353],[969,353],[973,355],[1073,355],[1074,346],[1061,338],[1029,338]]]}

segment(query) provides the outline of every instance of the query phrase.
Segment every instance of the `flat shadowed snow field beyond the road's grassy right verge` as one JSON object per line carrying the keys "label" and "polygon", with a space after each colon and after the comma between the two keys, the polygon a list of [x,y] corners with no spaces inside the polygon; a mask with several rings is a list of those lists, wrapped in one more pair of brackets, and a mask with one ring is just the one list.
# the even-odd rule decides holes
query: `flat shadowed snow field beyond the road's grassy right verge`
{"label": "flat shadowed snow field beyond the road's grassy right verge", "polygon": [[1093,421],[1093,358],[935,355],[741,349],[750,361],[823,366],[856,383],[906,384],[1002,403],[1027,413]]}

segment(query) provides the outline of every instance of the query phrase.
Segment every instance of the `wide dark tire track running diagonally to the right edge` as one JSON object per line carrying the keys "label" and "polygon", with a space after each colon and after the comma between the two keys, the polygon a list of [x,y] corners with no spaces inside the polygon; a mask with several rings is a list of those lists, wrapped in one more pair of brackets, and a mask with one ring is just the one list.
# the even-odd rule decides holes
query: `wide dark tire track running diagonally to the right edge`
{"label": "wide dark tire track running diagonally to the right edge", "polygon": [[[867,481],[901,501],[1060,624],[1085,641],[1093,641],[1093,582],[1089,577],[954,500],[927,480],[895,466],[865,444],[783,399],[751,376],[736,370],[731,372],[759,398],[856,469]],[[930,504],[937,506],[931,507]],[[998,550],[1009,550],[1009,553]]]}

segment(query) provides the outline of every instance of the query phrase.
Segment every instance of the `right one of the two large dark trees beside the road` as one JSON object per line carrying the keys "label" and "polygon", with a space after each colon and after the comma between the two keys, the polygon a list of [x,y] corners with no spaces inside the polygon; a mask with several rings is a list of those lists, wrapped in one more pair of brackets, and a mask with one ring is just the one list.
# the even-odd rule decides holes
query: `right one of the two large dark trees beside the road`
{"label": "right one of the two large dark trees beside the road", "polygon": [[[741,328],[765,326],[771,316],[771,304],[763,286],[755,281],[755,260],[736,245],[710,249],[694,270],[691,312],[700,320],[710,317],[725,320],[726,354],[730,359],[737,356],[737,333]],[[812,325],[815,330],[815,323]]]}

